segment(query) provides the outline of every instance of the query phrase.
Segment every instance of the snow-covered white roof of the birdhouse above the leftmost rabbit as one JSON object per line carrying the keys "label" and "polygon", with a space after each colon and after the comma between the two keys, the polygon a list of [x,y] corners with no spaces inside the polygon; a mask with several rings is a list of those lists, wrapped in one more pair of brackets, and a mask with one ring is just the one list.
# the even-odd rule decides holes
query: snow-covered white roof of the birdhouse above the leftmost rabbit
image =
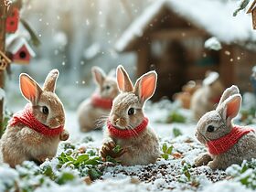
{"label": "snow-covered white roof of the birdhouse above the leftmost rabbit", "polygon": [[36,56],[36,53],[29,46],[25,37],[17,36],[14,34],[6,38],[6,50],[12,54],[16,54],[16,52],[23,46],[27,48],[27,51],[31,57],[34,58]]}

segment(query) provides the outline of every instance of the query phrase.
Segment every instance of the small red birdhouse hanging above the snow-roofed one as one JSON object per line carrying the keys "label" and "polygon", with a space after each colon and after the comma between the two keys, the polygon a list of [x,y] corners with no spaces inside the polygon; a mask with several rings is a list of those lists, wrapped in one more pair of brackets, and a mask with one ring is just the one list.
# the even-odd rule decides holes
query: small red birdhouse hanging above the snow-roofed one
{"label": "small red birdhouse hanging above the snow-roofed one", "polygon": [[6,32],[7,33],[15,33],[19,20],[19,10],[16,7],[13,7],[10,10],[10,13],[7,15],[6,18]]}

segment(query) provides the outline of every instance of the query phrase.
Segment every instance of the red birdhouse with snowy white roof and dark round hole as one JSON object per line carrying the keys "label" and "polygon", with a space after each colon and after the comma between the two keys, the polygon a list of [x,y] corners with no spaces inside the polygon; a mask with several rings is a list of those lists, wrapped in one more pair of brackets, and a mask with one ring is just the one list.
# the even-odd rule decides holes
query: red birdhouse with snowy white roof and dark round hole
{"label": "red birdhouse with snowy white roof and dark round hole", "polygon": [[6,39],[6,51],[10,59],[16,64],[28,64],[31,58],[36,56],[25,37],[13,35]]}

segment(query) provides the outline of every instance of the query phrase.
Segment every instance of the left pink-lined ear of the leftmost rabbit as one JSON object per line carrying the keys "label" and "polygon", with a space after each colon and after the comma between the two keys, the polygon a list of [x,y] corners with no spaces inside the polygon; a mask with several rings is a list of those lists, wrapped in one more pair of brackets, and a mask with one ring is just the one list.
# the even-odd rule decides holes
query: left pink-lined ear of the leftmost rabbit
{"label": "left pink-lined ear of the leftmost rabbit", "polygon": [[33,80],[26,73],[21,73],[19,76],[19,88],[22,95],[33,104],[37,103],[42,89],[37,84],[36,80]]}

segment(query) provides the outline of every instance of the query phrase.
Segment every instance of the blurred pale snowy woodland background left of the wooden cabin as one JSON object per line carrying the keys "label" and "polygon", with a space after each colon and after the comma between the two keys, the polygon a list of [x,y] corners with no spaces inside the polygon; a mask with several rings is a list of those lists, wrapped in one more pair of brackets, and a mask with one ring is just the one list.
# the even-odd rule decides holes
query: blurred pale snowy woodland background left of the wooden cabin
{"label": "blurred pale snowy woodland background left of the wooden cabin", "polygon": [[[20,72],[27,72],[42,83],[50,69],[59,69],[57,92],[65,105],[72,109],[95,88],[91,81],[92,66],[101,66],[109,72],[122,64],[133,74],[136,70],[135,55],[118,54],[114,46],[125,28],[151,2],[23,1],[20,16],[35,31],[41,44],[38,47],[31,45],[36,57],[28,65],[11,66],[12,74],[5,80],[7,102],[13,105],[20,101],[21,95],[16,89]],[[16,33],[30,38],[21,24]]]}

